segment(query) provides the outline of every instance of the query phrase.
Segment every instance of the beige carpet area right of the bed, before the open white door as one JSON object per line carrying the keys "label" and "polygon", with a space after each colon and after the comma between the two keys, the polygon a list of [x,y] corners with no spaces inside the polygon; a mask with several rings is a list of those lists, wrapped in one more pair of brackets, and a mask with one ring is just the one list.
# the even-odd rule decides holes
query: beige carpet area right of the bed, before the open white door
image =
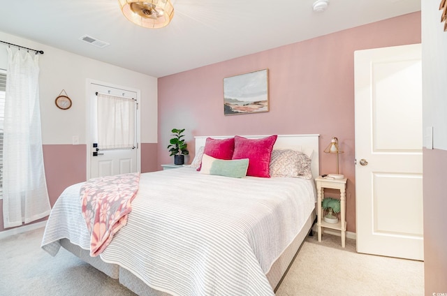
{"label": "beige carpet area right of the bed, before the open white door", "polygon": [[276,295],[421,296],[424,263],[356,252],[335,235],[307,237]]}

